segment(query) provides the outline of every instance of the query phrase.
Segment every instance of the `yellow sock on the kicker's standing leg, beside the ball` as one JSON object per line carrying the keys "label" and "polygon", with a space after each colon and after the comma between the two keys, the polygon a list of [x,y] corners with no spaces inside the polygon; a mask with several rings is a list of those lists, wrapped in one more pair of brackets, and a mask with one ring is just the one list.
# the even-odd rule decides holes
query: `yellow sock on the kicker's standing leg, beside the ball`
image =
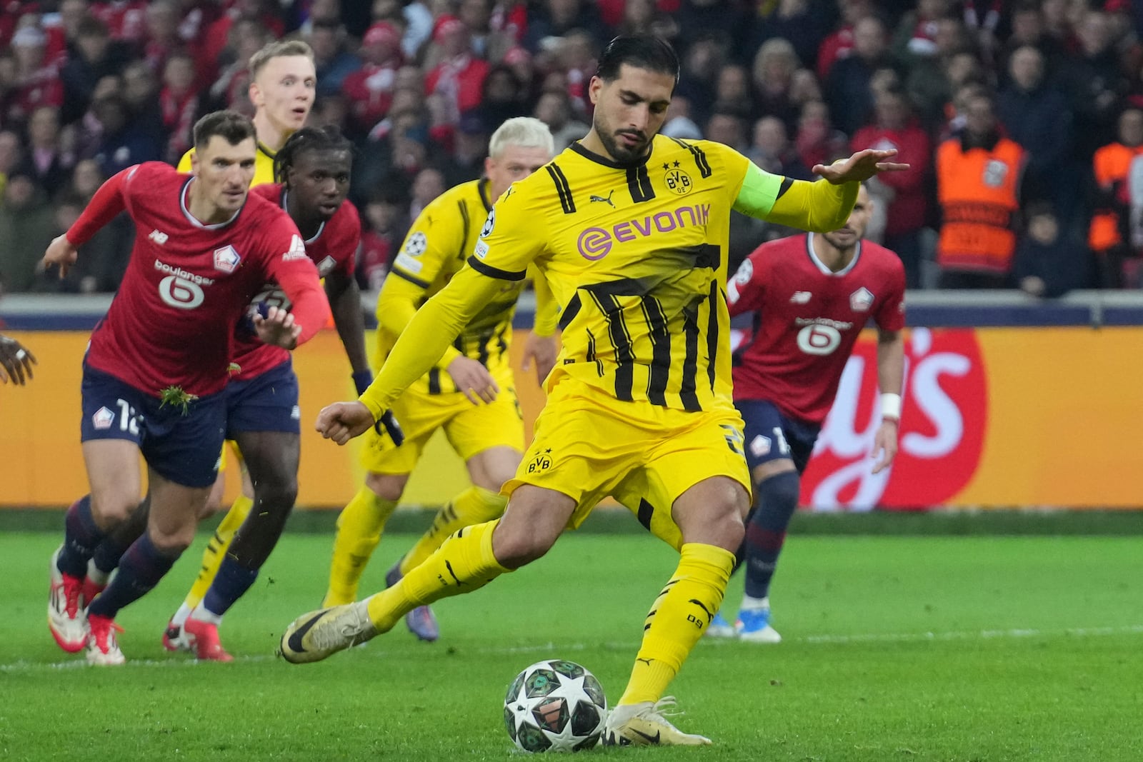
{"label": "yellow sock on the kicker's standing leg, beside the ball", "polygon": [[719,607],[734,569],[734,554],[714,545],[687,543],[679,568],[655,599],[644,641],[620,704],[657,701],[679,673]]}

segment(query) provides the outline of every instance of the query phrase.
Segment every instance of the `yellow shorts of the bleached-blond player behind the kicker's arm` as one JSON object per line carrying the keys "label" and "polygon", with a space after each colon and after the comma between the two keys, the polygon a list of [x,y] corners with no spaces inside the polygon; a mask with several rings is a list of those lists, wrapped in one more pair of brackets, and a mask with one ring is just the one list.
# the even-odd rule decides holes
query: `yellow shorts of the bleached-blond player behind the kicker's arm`
{"label": "yellow shorts of the bleached-blond player behind the kicker's arm", "polygon": [[[490,404],[472,404],[459,392],[429,394],[406,390],[393,403],[393,417],[405,432],[405,443],[393,446],[387,434],[365,433],[361,465],[375,474],[407,474],[421,459],[433,433],[443,427],[448,443],[465,462],[494,447],[523,450],[523,417],[515,388],[497,378],[499,394]],[[511,380],[511,379],[509,379]]]}

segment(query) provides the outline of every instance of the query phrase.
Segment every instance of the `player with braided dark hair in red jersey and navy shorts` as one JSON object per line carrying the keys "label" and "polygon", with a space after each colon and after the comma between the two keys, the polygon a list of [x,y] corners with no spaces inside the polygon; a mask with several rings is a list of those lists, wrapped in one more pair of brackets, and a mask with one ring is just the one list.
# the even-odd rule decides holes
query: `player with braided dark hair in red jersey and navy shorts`
{"label": "player with braided dark hair in red jersey and navy shorts", "polygon": [[[306,256],[325,278],[334,323],[361,390],[369,386],[365,350],[361,294],[353,279],[354,256],[361,240],[361,219],[349,200],[352,144],[334,127],[305,127],[286,141],[274,158],[278,184],[256,185],[250,194],[281,207],[297,225]],[[298,384],[289,352],[261,342],[250,319],[270,306],[289,310],[289,297],[277,283],[266,283],[254,297],[248,318],[238,323],[226,385],[226,439],[238,444],[254,487],[254,510],[248,512],[223,553],[201,603],[185,604],[168,623],[163,645],[192,651],[197,658],[230,661],[218,639],[222,616],[241,597],[258,569],[270,558],[297,496],[301,456]],[[104,538],[93,563],[105,579],[125,548],[145,526],[146,502],[130,522]],[[202,516],[205,518],[205,516]],[[99,587],[88,575],[85,596]]]}

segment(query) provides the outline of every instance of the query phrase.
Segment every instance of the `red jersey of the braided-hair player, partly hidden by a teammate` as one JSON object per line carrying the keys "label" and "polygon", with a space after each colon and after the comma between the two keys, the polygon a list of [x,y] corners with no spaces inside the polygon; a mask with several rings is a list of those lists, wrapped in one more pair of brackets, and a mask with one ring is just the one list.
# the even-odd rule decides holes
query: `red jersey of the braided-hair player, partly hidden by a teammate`
{"label": "red jersey of the braided-hair player, partly hidden by a teammate", "polygon": [[[259,195],[281,209],[286,208],[286,189],[267,183],[250,190],[250,195]],[[333,272],[341,272],[346,278],[353,278],[354,260],[358,244],[361,242],[361,219],[357,207],[345,200],[328,222],[323,223],[313,238],[305,241],[305,254],[318,266],[318,274],[325,278]],[[253,318],[258,306],[290,308],[289,297],[282,292],[278,283],[264,283],[247,308],[246,316]],[[289,352],[270,344],[263,344],[254,332],[254,324],[248,319],[238,322],[234,332],[234,354],[231,358],[237,368],[232,368],[231,378],[247,380],[266,372],[289,360]]]}

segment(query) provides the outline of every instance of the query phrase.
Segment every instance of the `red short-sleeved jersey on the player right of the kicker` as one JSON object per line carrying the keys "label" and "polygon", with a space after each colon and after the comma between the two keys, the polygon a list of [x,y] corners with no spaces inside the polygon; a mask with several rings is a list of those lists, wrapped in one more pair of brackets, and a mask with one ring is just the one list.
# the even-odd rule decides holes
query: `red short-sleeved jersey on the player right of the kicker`
{"label": "red short-sleeved jersey on the player right of the kicker", "polygon": [[821,425],[865,321],[904,327],[905,270],[893,251],[862,241],[845,270],[830,272],[814,255],[813,235],[754,249],[727,283],[727,302],[732,316],[754,313],[753,337],[734,368],[734,399],[767,400]]}

